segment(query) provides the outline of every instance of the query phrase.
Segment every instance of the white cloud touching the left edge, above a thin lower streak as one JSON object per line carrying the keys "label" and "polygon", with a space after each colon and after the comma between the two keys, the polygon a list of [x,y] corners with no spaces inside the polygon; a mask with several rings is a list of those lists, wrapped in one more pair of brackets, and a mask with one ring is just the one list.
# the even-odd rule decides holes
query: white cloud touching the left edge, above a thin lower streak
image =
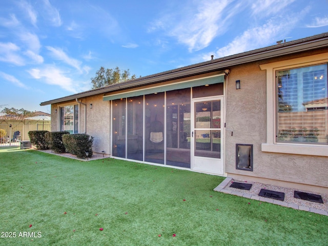
{"label": "white cloud touching the left edge, above a thin lower streak", "polygon": [[17,66],[25,65],[24,59],[17,54],[19,50],[13,43],[0,43],[0,60]]}

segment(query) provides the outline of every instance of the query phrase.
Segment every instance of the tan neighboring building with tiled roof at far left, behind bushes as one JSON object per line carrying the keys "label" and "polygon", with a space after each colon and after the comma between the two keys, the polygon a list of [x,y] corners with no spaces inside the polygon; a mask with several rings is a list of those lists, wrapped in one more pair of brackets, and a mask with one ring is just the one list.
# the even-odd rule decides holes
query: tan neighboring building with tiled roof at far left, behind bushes
{"label": "tan neighboring building with tiled roof at far left, behind bushes", "polygon": [[6,136],[1,136],[0,144],[3,146],[4,144],[9,144],[9,142],[29,140],[29,131],[50,131],[50,116],[50,114],[41,111],[21,116],[0,116],[0,129],[6,132]]}

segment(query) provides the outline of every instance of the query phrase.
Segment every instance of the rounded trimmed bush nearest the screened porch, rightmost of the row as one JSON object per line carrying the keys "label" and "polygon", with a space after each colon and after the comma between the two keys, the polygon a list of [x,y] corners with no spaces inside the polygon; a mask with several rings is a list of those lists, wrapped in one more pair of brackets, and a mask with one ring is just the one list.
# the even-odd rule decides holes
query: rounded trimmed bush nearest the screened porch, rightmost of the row
{"label": "rounded trimmed bush nearest the screened porch, rightmost of the row", "polygon": [[93,137],[88,134],[65,134],[63,135],[63,144],[66,151],[76,155],[77,158],[87,158],[86,152],[89,152],[89,157],[93,155]]}

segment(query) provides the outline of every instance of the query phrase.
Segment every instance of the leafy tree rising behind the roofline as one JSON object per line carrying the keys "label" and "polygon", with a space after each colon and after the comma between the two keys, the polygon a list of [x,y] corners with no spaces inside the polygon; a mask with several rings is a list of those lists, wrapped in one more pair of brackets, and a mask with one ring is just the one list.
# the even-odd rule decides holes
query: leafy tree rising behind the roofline
{"label": "leafy tree rising behind the roofline", "polygon": [[115,69],[105,69],[104,67],[100,67],[96,72],[96,76],[91,78],[91,85],[92,89],[96,89],[135,78],[135,74],[130,76],[129,69],[121,71],[118,67]]}

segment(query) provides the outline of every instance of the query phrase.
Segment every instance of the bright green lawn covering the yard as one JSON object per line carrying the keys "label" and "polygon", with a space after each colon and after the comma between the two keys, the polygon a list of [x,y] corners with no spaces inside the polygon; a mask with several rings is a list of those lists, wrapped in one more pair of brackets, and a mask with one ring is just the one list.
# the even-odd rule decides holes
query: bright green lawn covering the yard
{"label": "bright green lawn covering the yard", "polygon": [[0,245],[328,244],[328,216],[215,192],[219,176],[17,148],[0,165]]}

